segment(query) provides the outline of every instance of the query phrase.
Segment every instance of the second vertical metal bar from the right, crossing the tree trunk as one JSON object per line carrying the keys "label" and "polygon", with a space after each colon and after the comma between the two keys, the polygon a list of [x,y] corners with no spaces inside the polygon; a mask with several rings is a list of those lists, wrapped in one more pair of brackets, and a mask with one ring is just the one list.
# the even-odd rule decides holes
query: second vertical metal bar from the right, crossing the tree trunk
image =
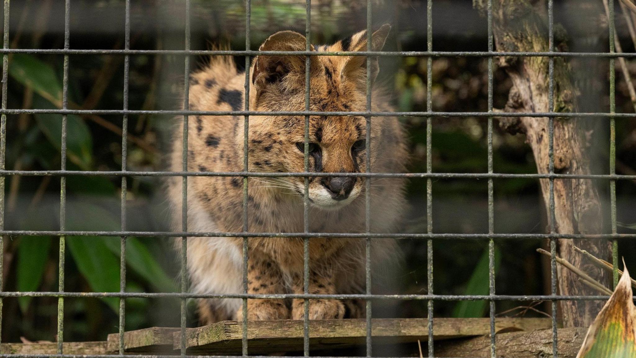
{"label": "second vertical metal bar from the right, crossing the tree trunk", "polygon": [[[553,0],[548,0],[548,52],[554,50],[554,4]],[[555,59],[550,57],[548,59],[548,110],[554,111],[554,88],[555,88]],[[537,119],[538,120],[538,119]],[[548,118],[548,170],[550,174],[555,172],[555,122],[554,117]],[[556,215],[555,215],[555,180],[550,178],[550,234],[556,234]],[[551,295],[556,296],[556,240],[553,236],[550,237],[550,290]],[[556,301],[551,300],[552,308],[552,354],[556,358],[558,357],[557,340],[558,334],[556,331]]]}

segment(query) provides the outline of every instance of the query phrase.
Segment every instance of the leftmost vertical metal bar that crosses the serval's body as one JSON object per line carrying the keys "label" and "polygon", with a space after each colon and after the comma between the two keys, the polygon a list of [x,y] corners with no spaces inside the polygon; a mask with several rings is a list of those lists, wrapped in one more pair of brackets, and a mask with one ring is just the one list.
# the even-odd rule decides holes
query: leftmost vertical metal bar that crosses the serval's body
{"label": "leftmost vertical metal bar that crosses the serval's body", "polygon": [[[184,48],[190,50],[190,0],[186,0],[186,23]],[[190,110],[190,55],[186,54],[183,75],[183,109]],[[183,148],[181,153],[182,170],[188,171],[188,122],[190,116],[183,115]],[[181,180],[181,229],[188,231],[188,176]],[[188,290],[188,237],[181,236],[181,293]],[[187,299],[181,299],[181,357],[186,355],[186,317]]]}

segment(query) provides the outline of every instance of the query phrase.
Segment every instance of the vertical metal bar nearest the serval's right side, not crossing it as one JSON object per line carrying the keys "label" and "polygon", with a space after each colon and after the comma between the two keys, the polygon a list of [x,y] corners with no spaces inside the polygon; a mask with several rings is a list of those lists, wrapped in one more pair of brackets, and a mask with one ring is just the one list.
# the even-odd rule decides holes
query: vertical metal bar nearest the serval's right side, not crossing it
{"label": "vertical metal bar nearest the serval's right side, not crossing it", "polygon": [[[433,1],[426,2],[426,50],[433,50]],[[426,111],[431,112],[432,102],[432,67],[433,59],[426,59]],[[432,173],[432,117],[426,118],[426,173]],[[431,178],[426,179],[426,232],[433,233],[433,187]],[[433,294],[433,241],[426,240],[426,275],[427,291]],[[433,301],[427,302],[428,326],[429,326],[429,357],[434,357],[433,350]]]}

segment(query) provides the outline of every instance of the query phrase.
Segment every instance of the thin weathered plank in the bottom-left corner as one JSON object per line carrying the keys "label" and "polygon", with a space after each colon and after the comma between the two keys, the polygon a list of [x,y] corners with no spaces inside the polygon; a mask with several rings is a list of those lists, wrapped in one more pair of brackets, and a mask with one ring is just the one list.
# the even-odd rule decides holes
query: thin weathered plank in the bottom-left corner
{"label": "thin weathered plank in the bottom-left corner", "polygon": [[[62,343],[64,354],[104,355],[109,354],[106,342]],[[57,343],[2,343],[0,354],[57,354]]]}

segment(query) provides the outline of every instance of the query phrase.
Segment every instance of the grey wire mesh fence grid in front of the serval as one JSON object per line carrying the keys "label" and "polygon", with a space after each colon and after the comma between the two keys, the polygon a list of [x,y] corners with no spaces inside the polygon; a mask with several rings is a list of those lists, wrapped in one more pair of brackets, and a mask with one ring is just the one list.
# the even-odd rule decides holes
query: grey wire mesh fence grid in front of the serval
{"label": "grey wire mesh fence grid in front of the serval", "polygon": [[[191,50],[190,49],[190,0],[185,0],[184,11],[186,13],[185,22],[185,47],[183,50],[131,50],[130,49],[130,0],[125,0],[125,48],[123,50],[75,50],[69,47],[69,23],[71,13],[71,0],[65,0],[64,11],[64,48],[63,49],[19,49],[9,48],[9,15],[10,15],[10,1],[4,0],[4,36],[3,36],[3,48],[1,53],[3,54],[3,80],[2,80],[2,108],[1,108],[1,122],[0,122],[0,248],[4,246],[4,236],[10,235],[24,235],[24,236],[38,236],[49,235],[59,237],[59,290],[57,292],[10,292],[3,291],[3,276],[0,275],[0,332],[2,329],[2,303],[4,297],[58,297],[58,311],[57,311],[57,355],[36,355],[36,354],[0,354],[0,357],[75,357],[79,355],[65,355],[64,347],[64,299],[66,297],[119,297],[119,355],[125,354],[125,341],[124,341],[124,327],[126,322],[126,299],[132,297],[174,297],[181,300],[181,356],[186,357],[186,300],[188,298],[238,298],[242,299],[242,355],[246,357],[248,355],[248,340],[247,340],[247,299],[254,298],[269,298],[269,299],[286,299],[296,298],[304,300],[304,319],[303,319],[303,355],[308,357],[310,355],[309,345],[309,299],[364,299],[366,302],[366,356],[372,355],[372,306],[371,299],[398,299],[398,300],[420,300],[427,302],[428,311],[428,356],[434,357],[434,331],[433,331],[433,307],[434,301],[458,301],[458,300],[487,300],[490,303],[490,355],[496,356],[496,335],[495,335],[495,306],[497,301],[511,300],[511,301],[527,301],[527,300],[546,300],[551,302],[551,308],[553,314],[552,319],[552,334],[553,334],[553,355],[558,356],[557,350],[557,320],[556,320],[556,303],[562,300],[604,300],[607,296],[560,296],[558,295],[556,285],[556,240],[560,238],[590,238],[598,239],[604,238],[612,240],[612,264],[614,268],[614,284],[618,282],[618,239],[619,238],[631,238],[635,239],[636,234],[618,234],[617,232],[617,219],[616,219],[616,180],[636,180],[636,175],[617,175],[616,174],[616,124],[615,118],[635,118],[635,113],[615,113],[616,110],[616,97],[615,97],[615,73],[614,62],[616,57],[633,58],[636,57],[636,53],[621,53],[617,54],[614,48],[614,3],[609,1],[609,52],[555,52],[554,47],[554,13],[553,13],[553,0],[548,1],[548,51],[547,52],[495,52],[494,49],[494,36],[493,36],[493,0],[487,2],[487,21],[488,21],[488,51],[487,52],[436,52],[432,50],[432,6],[433,0],[427,0],[427,46],[426,51],[421,52],[374,52],[371,48],[371,29],[373,27],[372,21],[372,8],[371,0],[366,1],[367,6],[367,50],[360,52],[321,52],[317,54],[310,50],[310,38],[311,38],[311,0],[306,0],[306,29],[305,36],[307,43],[305,51],[253,51],[250,42],[250,18],[251,18],[251,0],[245,0],[245,49],[244,51],[234,50]],[[496,0],[495,0],[496,1]],[[28,54],[62,54],[64,55],[64,70],[63,70],[63,91],[62,91],[62,108],[59,110],[20,110],[20,109],[8,109],[7,108],[7,79],[8,79],[8,66],[9,54],[28,53]],[[69,55],[82,55],[82,54],[104,54],[104,55],[123,55],[124,62],[124,88],[123,88],[123,108],[122,110],[70,110],[68,105],[68,78],[69,78]],[[128,109],[128,80],[129,80],[129,64],[130,55],[137,54],[178,54],[185,57],[185,71],[184,71],[184,101],[183,110],[174,111],[161,111],[161,110],[129,110]],[[197,111],[190,110],[188,103],[188,94],[190,83],[188,78],[190,76],[190,57],[193,55],[243,55],[245,56],[245,68],[249,69],[251,60],[256,55],[305,55],[305,110],[304,111],[253,111],[249,108],[249,101],[245,101],[243,111]],[[371,111],[371,76],[366,80],[366,111],[361,112],[341,112],[341,111],[310,111],[310,61],[315,55],[338,55],[338,56],[367,56],[366,69],[367,73],[370,73],[371,69],[371,56],[418,56],[427,57],[427,106],[426,111],[403,111],[403,112],[375,112]],[[485,57],[488,60],[488,111],[487,112],[440,112],[432,110],[432,59],[436,57]],[[607,58],[610,64],[609,70],[609,85],[610,85],[610,112],[609,113],[559,113],[554,108],[548,113],[497,113],[497,117],[535,117],[535,118],[548,118],[548,143],[549,143],[549,173],[547,174],[509,174],[509,173],[495,173],[493,169],[493,70],[494,57],[511,56],[511,57],[548,57],[548,97],[551,106],[554,104],[554,66],[555,57],[597,57]],[[245,96],[249,98],[249,82],[250,73],[245,71]],[[6,157],[6,116],[19,113],[52,113],[62,115],[62,150],[61,150],[61,168],[60,170],[49,171],[24,171],[24,170],[7,170],[5,168]],[[85,114],[97,114],[97,115],[121,115],[122,118],[122,131],[123,138],[121,140],[121,170],[120,171],[69,171],[66,169],[66,136],[67,136],[67,115],[85,115]],[[183,116],[183,169],[182,171],[128,171],[127,170],[127,132],[128,132],[128,116],[129,115],[176,115]],[[188,171],[188,119],[192,115],[235,115],[244,117],[244,154],[243,154],[243,171],[239,172],[193,172]],[[305,152],[304,152],[304,172],[303,173],[252,173],[248,171],[248,132],[249,132],[249,117],[251,115],[294,115],[304,116],[305,118]],[[319,116],[361,116],[366,118],[366,166],[364,173],[314,173],[309,171],[309,118],[310,115]],[[425,173],[373,173],[371,168],[371,117],[425,117],[426,118],[426,171]],[[432,171],[432,118],[434,117],[486,117],[487,118],[487,149],[488,149],[488,171],[487,173],[433,173]],[[572,175],[555,173],[554,168],[554,118],[555,117],[595,117],[600,120],[609,118],[610,125],[610,168],[609,175]],[[4,228],[4,183],[8,176],[59,176],[60,177],[60,218],[59,218],[59,231],[31,231],[31,230],[6,230]],[[121,230],[120,231],[68,231],[66,230],[66,176],[120,176],[121,177]],[[183,194],[183,206],[182,206],[182,227],[181,232],[158,232],[158,231],[128,231],[126,225],[126,213],[127,213],[127,178],[130,176],[181,176],[182,178],[182,194]],[[190,176],[239,176],[243,178],[243,232],[242,233],[218,233],[218,232],[190,232],[188,231],[188,202],[187,202],[187,188],[188,178]],[[303,177],[305,184],[305,192],[303,198],[303,218],[304,218],[304,230],[303,233],[251,233],[248,227],[248,213],[247,213],[247,201],[248,201],[248,178],[249,177],[282,177],[282,176],[296,176]],[[312,176],[351,176],[364,178],[366,186],[366,198],[365,198],[365,233],[310,233],[308,226],[308,178]],[[397,234],[397,233],[385,233],[377,234],[371,233],[370,230],[370,183],[371,178],[426,178],[426,207],[427,207],[427,232],[418,234]],[[432,180],[436,178],[485,178],[488,180],[488,233],[487,234],[441,234],[433,233],[432,222]],[[549,234],[497,234],[494,232],[494,185],[493,180],[495,178],[532,178],[532,179],[548,179],[550,182],[550,202],[549,208],[551,220],[550,221],[550,233]],[[610,185],[610,203],[611,203],[611,233],[609,234],[559,234],[556,233],[555,227],[555,196],[554,196],[554,181],[555,179],[574,179],[574,178],[590,178],[597,180],[609,181]],[[64,290],[64,257],[66,250],[66,236],[113,236],[120,237],[120,290],[119,292],[66,292]],[[128,236],[170,236],[175,238],[181,238],[181,267],[186,267],[187,261],[187,246],[188,236],[199,237],[235,237],[242,238],[243,248],[243,277],[242,277],[242,290],[241,294],[192,294],[188,292],[186,270],[181,271],[181,290],[180,292],[163,292],[163,293],[151,293],[151,292],[127,292],[126,291],[126,242]],[[303,250],[304,250],[304,265],[303,265],[303,294],[248,294],[247,290],[247,243],[249,238],[253,237],[283,237],[283,238],[303,238]],[[364,294],[310,294],[309,293],[309,242],[311,238],[364,238],[366,240],[366,292]],[[370,269],[370,250],[371,239],[396,239],[396,238],[418,238],[427,240],[427,294],[392,294],[392,295],[379,295],[371,292],[371,269]],[[433,287],[433,252],[432,244],[434,240],[445,239],[480,239],[488,240],[488,261],[489,261],[489,292],[487,295],[448,295],[448,294],[434,294]],[[495,240],[506,239],[548,239],[550,240],[551,251],[551,294],[548,295],[536,295],[536,296],[515,296],[515,295],[497,295],[495,292],[495,264],[494,264],[494,243]],[[0,255],[0,272],[2,271],[3,257]],[[129,355],[130,357],[150,357],[149,355]],[[109,357],[112,355],[92,355],[91,357]],[[166,355],[165,357],[171,357],[172,355]],[[197,357],[200,355],[197,355]],[[252,355],[253,356],[253,355]],[[162,355],[152,355],[152,357],[163,357]],[[211,357],[223,358],[231,357],[224,355],[213,355]]]}

